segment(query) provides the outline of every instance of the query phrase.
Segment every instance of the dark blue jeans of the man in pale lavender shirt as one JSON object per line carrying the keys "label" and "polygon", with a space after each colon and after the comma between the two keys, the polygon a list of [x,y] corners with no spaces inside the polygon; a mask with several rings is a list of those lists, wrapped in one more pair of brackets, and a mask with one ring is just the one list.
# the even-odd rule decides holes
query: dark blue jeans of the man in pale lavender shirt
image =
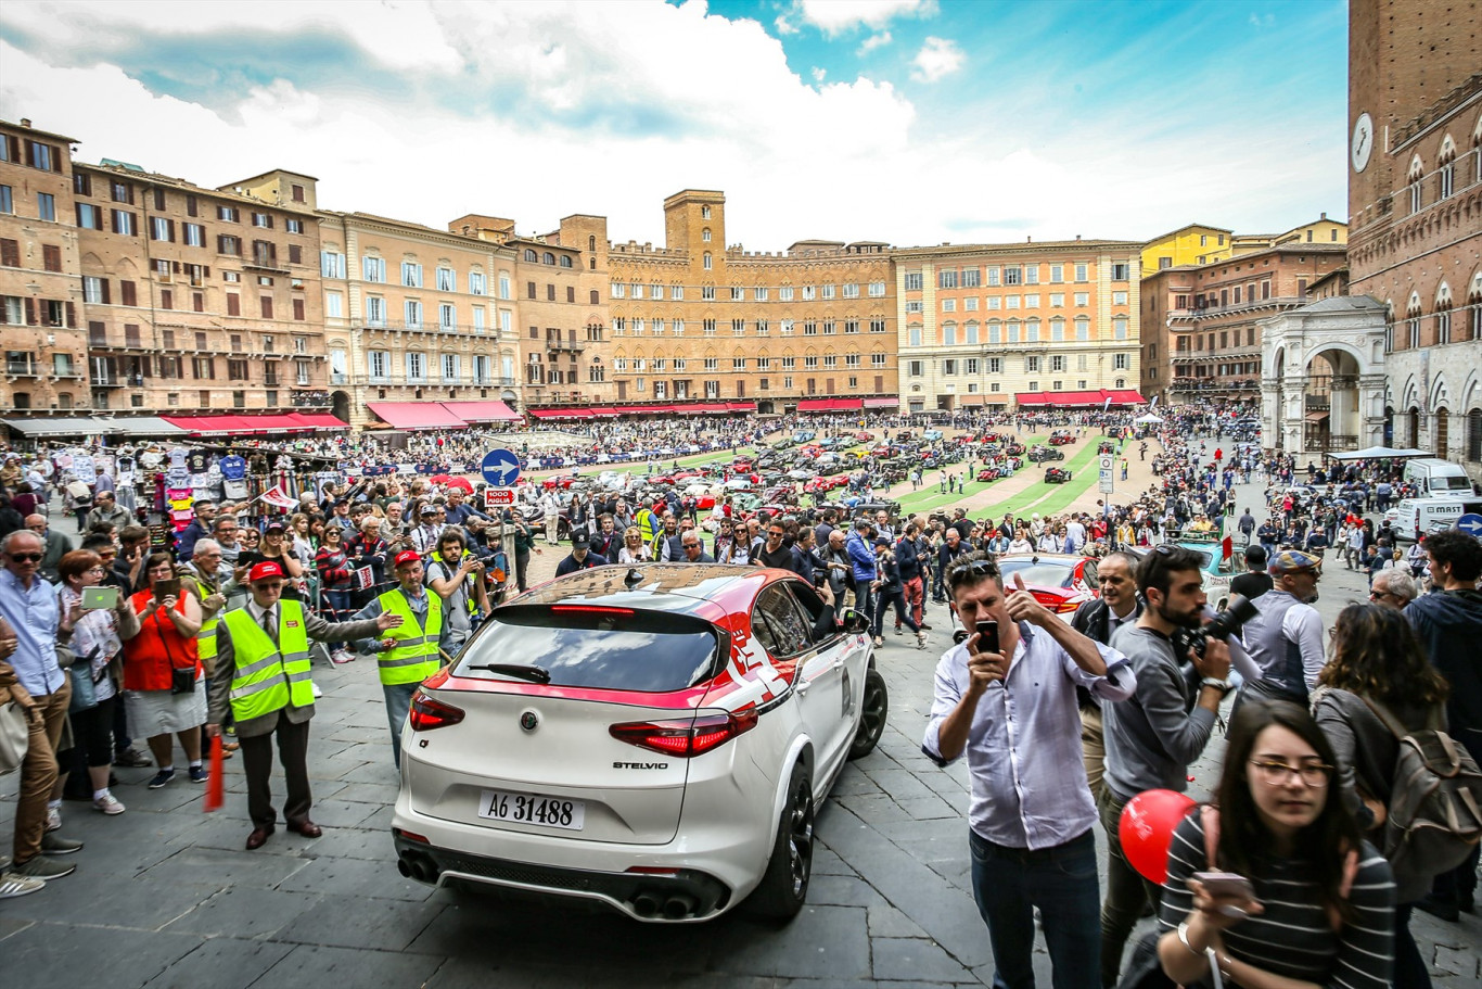
{"label": "dark blue jeans of the man in pale lavender shirt", "polygon": [[969,832],[972,899],[993,943],[994,989],[1034,986],[1034,907],[1054,989],[1101,986],[1101,884],[1094,832],[1030,851]]}

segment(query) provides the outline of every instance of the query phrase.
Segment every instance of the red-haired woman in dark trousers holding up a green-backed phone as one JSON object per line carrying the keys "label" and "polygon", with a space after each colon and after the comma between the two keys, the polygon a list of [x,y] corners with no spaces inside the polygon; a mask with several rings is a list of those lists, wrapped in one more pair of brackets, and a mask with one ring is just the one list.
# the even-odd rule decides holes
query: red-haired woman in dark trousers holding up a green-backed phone
{"label": "red-haired woman in dark trousers holding up a green-backed phone", "polygon": [[[123,804],[108,790],[108,774],[113,771],[113,710],[119,698],[123,644],[139,633],[139,618],[117,587],[107,589],[113,592],[111,608],[89,608],[92,602],[83,601],[83,592],[98,587],[107,575],[102,558],[96,553],[73,550],[56,563],[56,572],[61,577],[56,601],[62,614],[73,618],[71,648],[77,657],[71,669],[73,741],[87,759],[93,807],[104,814],[122,814]],[[92,687],[92,701],[86,707],[86,691],[76,687],[82,676]]]}

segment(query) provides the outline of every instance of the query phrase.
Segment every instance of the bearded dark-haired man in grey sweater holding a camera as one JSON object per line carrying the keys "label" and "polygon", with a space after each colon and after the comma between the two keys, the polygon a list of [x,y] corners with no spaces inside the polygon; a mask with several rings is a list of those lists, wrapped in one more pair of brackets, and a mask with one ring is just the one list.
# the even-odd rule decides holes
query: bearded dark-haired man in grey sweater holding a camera
{"label": "bearded dark-haired man in grey sweater holding a camera", "polygon": [[1214,734],[1220,701],[1229,689],[1230,651],[1220,639],[1205,639],[1203,655],[1189,649],[1199,673],[1190,687],[1178,664],[1174,635],[1203,621],[1205,592],[1200,555],[1159,547],[1137,568],[1137,587],[1147,608],[1135,626],[1112,636],[1112,648],[1132,660],[1137,689],[1120,704],[1103,707],[1106,777],[1097,798],[1107,829],[1107,897],[1101,904],[1101,985],[1114,986],[1122,947],[1157,888],[1144,881],[1122,853],[1117,824],[1122,808],[1143,790],[1187,786],[1189,765]]}

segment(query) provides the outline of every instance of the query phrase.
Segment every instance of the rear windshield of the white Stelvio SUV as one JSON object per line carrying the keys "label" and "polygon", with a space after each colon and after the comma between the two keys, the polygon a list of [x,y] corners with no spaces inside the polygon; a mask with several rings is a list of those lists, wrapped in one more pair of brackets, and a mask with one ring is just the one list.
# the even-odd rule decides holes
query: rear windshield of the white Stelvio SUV
{"label": "rear windshield of the white Stelvio SUV", "polygon": [[553,687],[664,694],[711,676],[717,636],[705,621],[657,612],[553,612],[499,608],[453,669],[455,676],[516,679],[468,669],[485,663],[538,666]]}

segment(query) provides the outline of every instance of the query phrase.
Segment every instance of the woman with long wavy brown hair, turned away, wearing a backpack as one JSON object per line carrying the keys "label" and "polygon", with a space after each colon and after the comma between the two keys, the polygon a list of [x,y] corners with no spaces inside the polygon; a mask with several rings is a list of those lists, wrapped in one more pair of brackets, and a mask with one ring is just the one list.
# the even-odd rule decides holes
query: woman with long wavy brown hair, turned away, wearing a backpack
{"label": "woman with long wavy brown hair, turned away, wearing a backpack", "polygon": [[[1386,592],[1380,592],[1386,593]],[[1405,615],[1383,602],[1349,605],[1332,626],[1332,655],[1317,678],[1317,725],[1332,743],[1338,796],[1375,842],[1384,827],[1399,741],[1384,727],[1383,710],[1406,732],[1446,725],[1451,687],[1432,666]],[[1409,915],[1430,891],[1433,876],[1395,873],[1395,985],[1430,985]]]}

